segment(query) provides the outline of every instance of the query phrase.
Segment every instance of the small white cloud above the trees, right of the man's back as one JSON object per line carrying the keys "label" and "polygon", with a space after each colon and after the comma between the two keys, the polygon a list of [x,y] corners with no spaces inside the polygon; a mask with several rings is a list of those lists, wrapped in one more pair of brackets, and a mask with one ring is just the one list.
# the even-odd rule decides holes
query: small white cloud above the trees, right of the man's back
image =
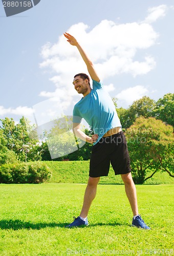
{"label": "small white cloud above the trees, right of the man's back", "polygon": [[141,99],[143,96],[148,95],[148,90],[144,86],[129,87],[126,90],[121,91],[116,95],[118,103],[123,103],[126,106],[133,103],[137,99]]}

